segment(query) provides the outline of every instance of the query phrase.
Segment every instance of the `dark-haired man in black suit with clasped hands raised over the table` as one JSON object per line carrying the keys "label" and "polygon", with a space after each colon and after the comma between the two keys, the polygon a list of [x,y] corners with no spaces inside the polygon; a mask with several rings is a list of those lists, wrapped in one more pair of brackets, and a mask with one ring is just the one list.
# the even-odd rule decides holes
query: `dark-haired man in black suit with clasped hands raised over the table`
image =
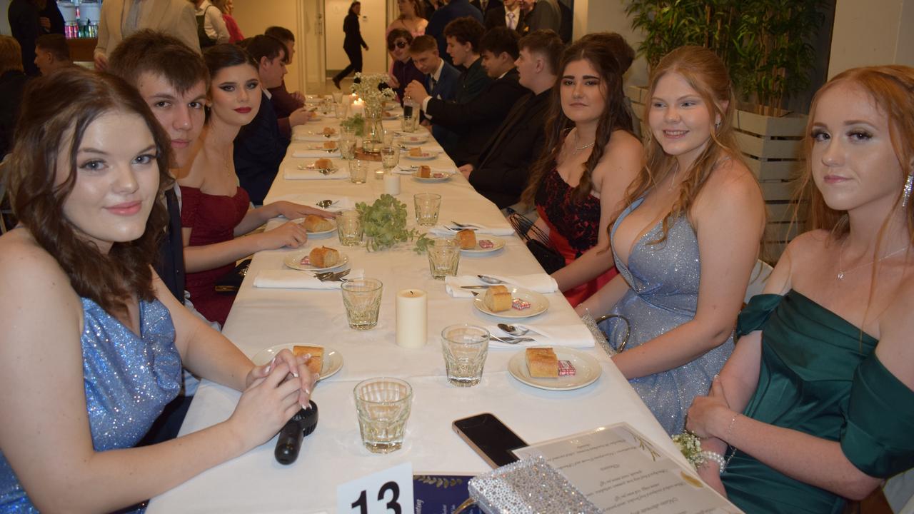
{"label": "dark-haired man in black suit with clasped hands raised over the table", "polygon": [[415,82],[407,94],[420,102],[433,126],[459,135],[448,155],[458,165],[471,162],[526,90],[517,82],[517,34],[507,27],[493,28],[480,40],[483,67],[493,82],[470,102],[444,102],[432,98]]}

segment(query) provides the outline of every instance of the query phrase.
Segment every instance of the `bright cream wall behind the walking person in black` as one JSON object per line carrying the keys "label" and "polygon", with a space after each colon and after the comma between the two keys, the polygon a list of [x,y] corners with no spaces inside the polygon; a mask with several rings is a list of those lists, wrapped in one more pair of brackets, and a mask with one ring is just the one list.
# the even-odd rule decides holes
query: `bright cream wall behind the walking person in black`
{"label": "bright cream wall behind the walking person in black", "polygon": [[[362,61],[366,73],[383,73],[387,67],[387,48],[384,32],[387,29],[387,2],[385,0],[361,0],[362,14],[359,27],[368,50],[362,49]],[[349,12],[351,0],[324,0],[326,15],[327,70],[343,70],[349,59],[343,51],[343,19]]]}

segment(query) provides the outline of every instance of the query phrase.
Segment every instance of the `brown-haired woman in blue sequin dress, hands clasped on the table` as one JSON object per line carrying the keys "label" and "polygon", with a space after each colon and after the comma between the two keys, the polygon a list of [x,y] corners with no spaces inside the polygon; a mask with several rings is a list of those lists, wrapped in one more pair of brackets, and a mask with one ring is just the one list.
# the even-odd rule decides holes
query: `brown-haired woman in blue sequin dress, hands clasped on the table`
{"label": "brown-haired woman in blue sequin dress, hands clasped on the table", "polygon": [[[120,79],[74,69],[26,92],[5,165],[20,226],[0,237],[0,512],[129,508],[263,444],[308,401],[303,360],[254,367],[155,276],[169,154]],[[132,448],[182,363],[244,391],[235,412]]]}

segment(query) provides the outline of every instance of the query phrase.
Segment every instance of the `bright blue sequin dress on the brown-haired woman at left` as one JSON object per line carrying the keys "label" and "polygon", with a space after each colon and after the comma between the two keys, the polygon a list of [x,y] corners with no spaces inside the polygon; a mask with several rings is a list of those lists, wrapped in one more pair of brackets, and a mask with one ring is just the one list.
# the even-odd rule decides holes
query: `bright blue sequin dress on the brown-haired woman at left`
{"label": "bright blue sequin dress on the brown-haired woman at left", "polygon": [[[137,337],[95,302],[81,300],[82,373],[92,444],[99,452],[132,447],[181,388],[175,325],[161,302],[141,301],[142,337]],[[0,512],[37,511],[0,453]]]}

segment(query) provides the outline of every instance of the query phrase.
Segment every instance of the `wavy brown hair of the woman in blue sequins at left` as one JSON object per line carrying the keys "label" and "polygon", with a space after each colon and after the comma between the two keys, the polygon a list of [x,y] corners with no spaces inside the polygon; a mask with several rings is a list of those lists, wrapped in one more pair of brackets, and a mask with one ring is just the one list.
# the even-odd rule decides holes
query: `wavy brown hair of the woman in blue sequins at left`
{"label": "wavy brown hair of the woman in blue sequins at left", "polygon": [[[81,238],[79,227],[64,216],[64,203],[77,180],[82,137],[91,123],[108,112],[138,114],[153,134],[161,199],[172,184],[171,140],[140,93],[113,75],[74,68],[32,80],[23,94],[16,144],[7,165],[16,217],[57,260],[77,294],[116,315],[126,313],[134,294],[146,301],[154,298],[152,264],[165,235],[168,212],[164,201],[154,202],[143,236],[115,242],[107,254]],[[66,165],[58,163],[58,152],[66,155]],[[57,184],[61,165],[69,166],[69,175]]]}

